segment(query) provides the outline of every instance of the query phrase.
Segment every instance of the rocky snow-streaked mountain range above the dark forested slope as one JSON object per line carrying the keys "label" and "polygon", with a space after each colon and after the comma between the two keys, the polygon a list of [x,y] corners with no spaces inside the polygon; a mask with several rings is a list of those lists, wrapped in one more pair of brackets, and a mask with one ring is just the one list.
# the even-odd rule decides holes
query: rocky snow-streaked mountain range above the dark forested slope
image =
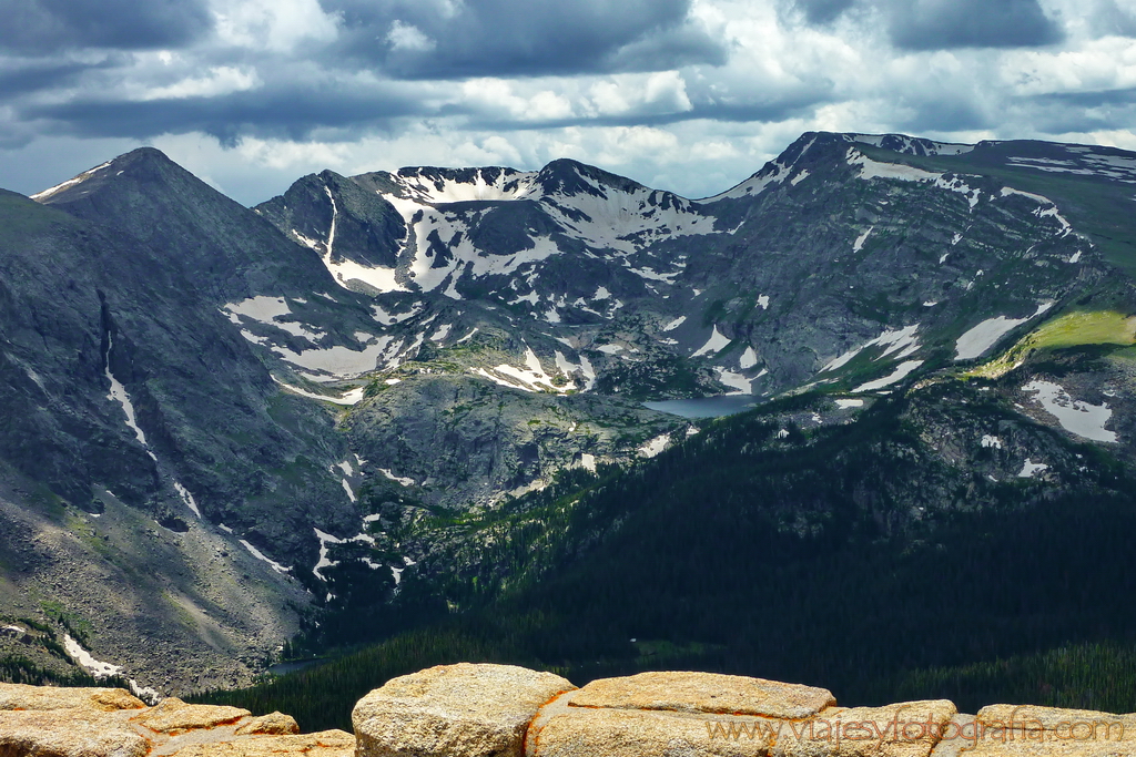
{"label": "rocky snow-streaked mountain range above the dark forested slope", "polygon": [[[819,396],[795,440],[938,393],[903,415],[926,476],[857,495],[900,532],[1071,491],[1103,464],[1075,443],[1136,460],[1133,180],[1104,148],[805,134],[696,201],[558,160],[324,171],[250,210],[149,149],[0,194],[0,550],[34,565],[0,613],[166,691],[245,681],[312,606],[508,574],[468,519],[552,544],[538,490],[696,444],[645,399]],[[596,513],[587,538],[628,514]]]}

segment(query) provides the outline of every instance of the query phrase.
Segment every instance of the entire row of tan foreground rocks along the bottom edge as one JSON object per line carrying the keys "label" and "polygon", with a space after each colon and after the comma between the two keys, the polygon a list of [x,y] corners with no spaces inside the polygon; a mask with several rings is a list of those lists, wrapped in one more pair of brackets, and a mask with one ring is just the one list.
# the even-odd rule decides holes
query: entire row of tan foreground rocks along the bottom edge
{"label": "entire row of tan foreground rocks along the bottom edge", "polygon": [[840,707],[826,689],[717,673],[593,681],[512,665],[392,679],[356,734],[299,733],[281,713],[147,707],[116,689],[0,683],[0,757],[1119,757],[1136,714],[945,700]]}

